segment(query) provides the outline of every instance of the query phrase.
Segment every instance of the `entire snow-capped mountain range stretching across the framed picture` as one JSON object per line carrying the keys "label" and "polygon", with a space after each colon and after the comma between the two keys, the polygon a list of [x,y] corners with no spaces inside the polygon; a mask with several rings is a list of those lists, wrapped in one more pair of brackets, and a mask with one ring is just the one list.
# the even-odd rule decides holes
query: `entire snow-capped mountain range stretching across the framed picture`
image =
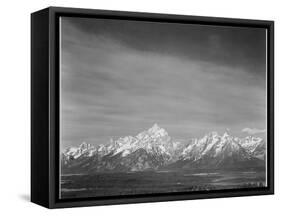
{"label": "entire snow-capped mountain range stretching across the framed picture", "polygon": [[211,132],[200,139],[173,140],[157,124],[137,136],[107,144],[82,143],[61,154],[62,173],[136,172],[160,169],[221,169],[265,166],[266,143]]}

